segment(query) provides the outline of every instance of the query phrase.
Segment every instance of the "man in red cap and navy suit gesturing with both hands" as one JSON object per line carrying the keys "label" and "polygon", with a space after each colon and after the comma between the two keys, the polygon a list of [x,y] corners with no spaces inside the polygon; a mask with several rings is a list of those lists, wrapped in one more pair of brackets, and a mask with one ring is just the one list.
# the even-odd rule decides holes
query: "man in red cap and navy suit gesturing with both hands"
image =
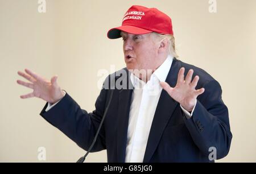
{"label": "man in red cap and navy suit gesturing with both hands", "polygon": [[48,82],[28,69],[18,73],[32,83],[18,83],[34,92],[21,98],[47,101],[40,115],[86,151],[106,114],[92,151],[106,149],[109,162],[209,162],[212,150],[224,158],[232,133],[221,86],[175,58],[173,35],[166,14],[132,6],[122,26],[108,32],[123,38],[126,68],[106,78],[92,113],[60,89],[56,76]]}

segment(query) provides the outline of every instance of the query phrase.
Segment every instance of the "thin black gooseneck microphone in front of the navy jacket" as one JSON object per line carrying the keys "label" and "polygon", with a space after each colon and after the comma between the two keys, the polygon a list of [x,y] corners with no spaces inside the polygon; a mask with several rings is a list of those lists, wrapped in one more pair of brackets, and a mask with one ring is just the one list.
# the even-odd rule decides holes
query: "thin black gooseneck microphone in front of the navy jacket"
{"label": "thin black gooseneck microphone in front of the navy jacket", "polygon": [[100,126],[98,126],[98,130],[97,130],[97,132],[96,132],[96,135],[94,136],[93,142],[92,142],[92,144],[90,145],[90,148],[89,148],[89,150],[86,152],[86,154],[85,154],[84,156],[82,156],[79,160],[77,160],[77,163],[83,163],[84,160],[85,160],[85,158],[86,158],[86,156],[87,156],[87,155],[90,153],[90,151],[92,150],[92,148],[93,148],[93,146],[94,146],[94,144],[95,144],[95,142],[96,142],[96,139],[97,139],[97,137],[98,137],[98,134],[99,134],[99,132],[100,132],[100,130],[101,130],[101,126],[102,126],[102,124],[103,124],[103,122],[104,122],[104,119],[105,119],[105,117],[106,117],[106,113],[108,113],[109,105],[110,105],[110,102],[111,102],[111,100],[112,100],[112,96],[113,96],[113,90],[110,88],[109,103],[108,103],[108,105],[107,105],[107,107],[106,107],[106,110],[105,110],[105,112],[104,112],[104,114],[103,114],[103,117],[102,117],[102,119],[101,119]]}

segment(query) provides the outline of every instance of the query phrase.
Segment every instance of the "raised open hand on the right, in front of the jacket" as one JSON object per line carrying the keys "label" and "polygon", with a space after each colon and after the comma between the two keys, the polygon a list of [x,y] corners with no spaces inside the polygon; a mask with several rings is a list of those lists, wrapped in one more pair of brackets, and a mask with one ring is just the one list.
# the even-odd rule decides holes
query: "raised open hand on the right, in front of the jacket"
{"label": "raised open hand on the right, in front of the jacket", "polygon": [[167,84],[167,82],[160,82],[160,85],[175,101],[179,102],[185,110],[191,112],[196,104],[197,96],[204,93],[204,88],[195,89],[199,81],[199,76],[196,76],[191,82],[193,75],[192,69],[188,71],[185,80],[184,72],[185,68],[180,68],[177,84],[174,88]]}

